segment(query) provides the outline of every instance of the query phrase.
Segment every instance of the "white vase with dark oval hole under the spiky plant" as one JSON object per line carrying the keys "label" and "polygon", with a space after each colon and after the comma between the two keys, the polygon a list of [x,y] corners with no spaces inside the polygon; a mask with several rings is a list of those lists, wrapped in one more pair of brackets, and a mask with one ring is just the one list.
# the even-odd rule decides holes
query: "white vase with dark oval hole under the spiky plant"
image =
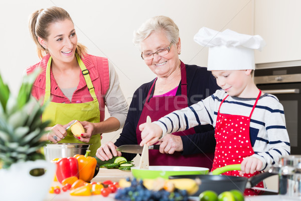
{"label": "white vase with dark oval hole under the spiky plant", "polygon": [[[32,176],[30,171],[44,168],[41,176]],[[18,162],[9,169],[0,169],[1,200],[43,200],[51,187],[56,165],[45,160]]]}

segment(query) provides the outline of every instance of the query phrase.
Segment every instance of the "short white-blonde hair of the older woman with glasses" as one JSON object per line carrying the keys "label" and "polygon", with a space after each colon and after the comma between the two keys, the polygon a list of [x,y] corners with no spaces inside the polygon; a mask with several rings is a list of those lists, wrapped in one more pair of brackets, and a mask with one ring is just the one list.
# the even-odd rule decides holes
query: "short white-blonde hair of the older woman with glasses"
{"label": "short white-blonde hair of the older woman with glasses", "polygon": [[138,30],[134,31],[134,45],[139,45],[154,31],[164,31],[170,43],[176,44],[179,40],[179,28],[176,23],[169,17],[156,16],[144,22]]}

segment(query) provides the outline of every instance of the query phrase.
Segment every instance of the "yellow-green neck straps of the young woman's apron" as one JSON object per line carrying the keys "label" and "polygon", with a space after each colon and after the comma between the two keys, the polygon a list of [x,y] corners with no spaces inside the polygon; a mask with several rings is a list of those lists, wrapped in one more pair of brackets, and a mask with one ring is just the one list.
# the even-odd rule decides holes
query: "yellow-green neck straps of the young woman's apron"
{"label": "yellow-green neck straps of the young woman's apron", "polygon": [[[90,92],[90,95],[92,96],[93,100],[96,100],[97,97],[96,97],[96,94],[95,94],[95,90],[94,90],[94,86],[92,84],[91,77],[89,75],[89,70],[86,68],[85,64],[83,63],[83,61],[81,60],[81,58],[79,57],[79,55],[77,53],[75,53],[75,56],[77,58],[77,62],[79,64],[81,72],[82,72],[82,74],[85,78],[85,81],[86,81],[88,90]],[[46,67],[46,83],[45,83],[44,104],[49,101],[50,93],[51,93],[51,80],[50,80],[51,61],[52,61],[52,57],[50,56],[49,60],[48,60],[48,63],[47,63],[47,67]]]}

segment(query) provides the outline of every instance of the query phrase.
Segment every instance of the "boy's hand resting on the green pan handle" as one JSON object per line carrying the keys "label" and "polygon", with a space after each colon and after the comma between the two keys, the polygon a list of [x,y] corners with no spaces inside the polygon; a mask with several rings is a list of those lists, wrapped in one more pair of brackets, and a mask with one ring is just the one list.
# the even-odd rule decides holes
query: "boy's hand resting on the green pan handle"
{"label": "boy's hand resting on the green pan handle", "polygon": [[249,156],[246,157],[240,164],[239,175],[242,176],[244,173],[253,174],[255,171],[259,171],[262,167],[262,161],[258,158]]}

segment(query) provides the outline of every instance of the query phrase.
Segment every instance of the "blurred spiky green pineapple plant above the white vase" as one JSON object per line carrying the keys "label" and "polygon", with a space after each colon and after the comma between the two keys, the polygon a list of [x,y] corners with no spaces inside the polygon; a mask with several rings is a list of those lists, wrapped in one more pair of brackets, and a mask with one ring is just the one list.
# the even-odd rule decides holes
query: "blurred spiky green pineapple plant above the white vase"
{"label": "blurred spiky green pineapple plant above the white vase", "polygon": [[45,159],[40,153],[46,141],[49,122],[41,120],[44,107],[31,96],[31,89],[39,71],[25,76],[17,97],[10,92],[0,75],[0,168],[13,163]]}

